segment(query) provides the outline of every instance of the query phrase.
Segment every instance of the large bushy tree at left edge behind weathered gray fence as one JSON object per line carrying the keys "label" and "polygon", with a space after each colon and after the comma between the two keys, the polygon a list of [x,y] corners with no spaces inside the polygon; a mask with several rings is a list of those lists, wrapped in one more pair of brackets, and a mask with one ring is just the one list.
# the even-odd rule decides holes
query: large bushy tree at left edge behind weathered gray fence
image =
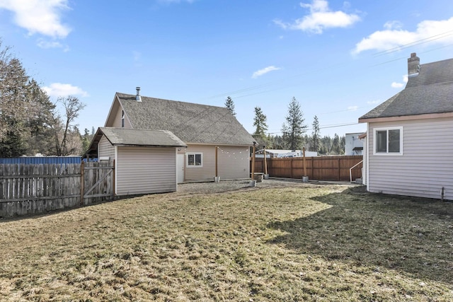
{"label": "large bushy tree at left edge behind weathered gray fence", "polygon": [[0,156],[42,153],[52,103],[9,50],[0,40]]}

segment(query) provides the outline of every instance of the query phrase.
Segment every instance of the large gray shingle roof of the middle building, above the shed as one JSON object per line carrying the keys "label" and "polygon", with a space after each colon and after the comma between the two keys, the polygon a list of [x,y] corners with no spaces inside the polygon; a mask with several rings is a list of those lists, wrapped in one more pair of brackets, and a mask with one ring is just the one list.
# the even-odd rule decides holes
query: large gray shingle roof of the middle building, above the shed
{"label": "large gray shingle roof of the middle building, above the shed", "polygon": [[116,93],[134,129],[166,129],[185,143],[251,145],[254,140],[228,109]]}

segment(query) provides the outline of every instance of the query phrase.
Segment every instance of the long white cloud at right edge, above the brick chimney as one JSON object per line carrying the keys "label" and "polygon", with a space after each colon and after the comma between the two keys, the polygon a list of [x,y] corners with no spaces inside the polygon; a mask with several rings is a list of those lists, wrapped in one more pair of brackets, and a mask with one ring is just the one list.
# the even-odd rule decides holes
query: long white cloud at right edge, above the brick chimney
{"label": "long white cloud at right edge, above the brick chimney", "polygon": [[387,22],[384,28],[385,30],[377,30],[368,37],[364,37],[355,45],[352,54],[359,54],[365,50],[394,50],[417,41],[437,44],[453,42],[453,17],[442,21],[422,21],[413,32],[403,30],[396,21]]}

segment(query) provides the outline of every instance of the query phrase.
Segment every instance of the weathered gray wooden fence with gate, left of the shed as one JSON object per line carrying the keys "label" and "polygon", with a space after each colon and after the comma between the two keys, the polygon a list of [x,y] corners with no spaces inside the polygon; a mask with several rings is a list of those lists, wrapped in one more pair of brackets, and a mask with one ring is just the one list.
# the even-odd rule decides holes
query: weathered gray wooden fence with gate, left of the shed
{"label": "weathered gray wooden fence with gate, left of the shed", "polygon": [[0,164],[0,217],[39,214],[107,199],[114,163]]}

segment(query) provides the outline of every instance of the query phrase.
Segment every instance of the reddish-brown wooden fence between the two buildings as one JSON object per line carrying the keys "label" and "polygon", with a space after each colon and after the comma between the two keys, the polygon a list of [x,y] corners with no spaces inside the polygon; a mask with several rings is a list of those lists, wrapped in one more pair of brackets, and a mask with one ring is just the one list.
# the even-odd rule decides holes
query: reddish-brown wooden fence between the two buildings
{"label": "reddish-brown wooden fence between the two buildings", "polygon": [[[302,157],[267,158],[268,174],[275,178],[302,179],[308,176],[310,180],[349,181],[349,170],[362,161],[362,156],[316,156],[306,157],[306,175]],[[255,159],[255,173],[264,172],[264,158]],[[362,163],[351,170],[352,180],[362,178]]]}

